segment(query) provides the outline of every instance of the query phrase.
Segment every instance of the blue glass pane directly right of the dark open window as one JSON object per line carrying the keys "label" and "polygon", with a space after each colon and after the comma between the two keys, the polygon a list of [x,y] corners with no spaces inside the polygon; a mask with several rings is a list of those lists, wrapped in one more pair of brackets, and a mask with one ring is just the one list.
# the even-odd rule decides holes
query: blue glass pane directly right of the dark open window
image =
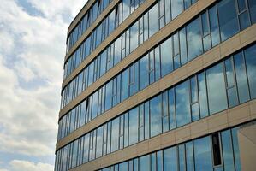
{"label": "blue glass pane directly right of the dark open window", "polygon": [[230,130],[224,131],[221,134],[223,142],[223,162],[225,170],[235,170]]}

